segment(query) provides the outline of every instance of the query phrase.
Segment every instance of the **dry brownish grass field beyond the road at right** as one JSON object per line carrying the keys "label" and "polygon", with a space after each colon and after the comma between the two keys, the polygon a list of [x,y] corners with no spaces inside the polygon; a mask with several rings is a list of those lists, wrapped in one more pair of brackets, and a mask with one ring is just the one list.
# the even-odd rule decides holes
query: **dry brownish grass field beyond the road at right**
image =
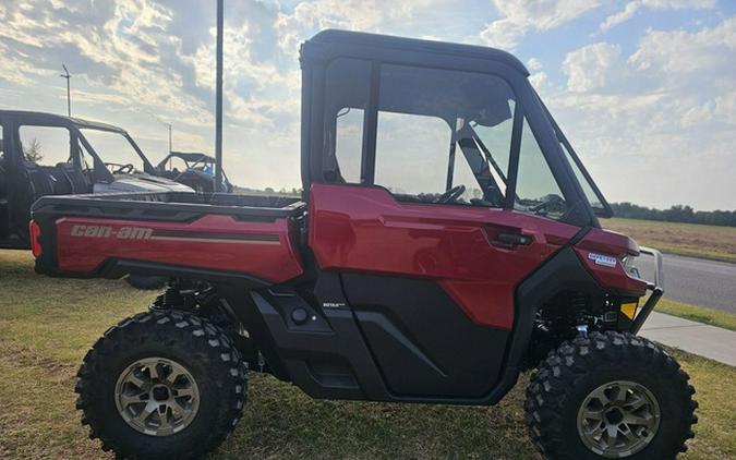
{"label": "dry brownish grass field beyond the road at right", "polygon": [[601,225],[664,253],[736,263],[736,227],[622,218],[602,219]]}

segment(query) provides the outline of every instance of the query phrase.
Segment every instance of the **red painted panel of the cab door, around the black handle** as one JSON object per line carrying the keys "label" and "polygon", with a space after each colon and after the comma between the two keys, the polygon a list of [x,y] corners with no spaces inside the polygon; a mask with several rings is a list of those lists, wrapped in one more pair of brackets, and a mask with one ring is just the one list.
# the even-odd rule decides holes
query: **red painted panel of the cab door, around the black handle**
{"label": "red painted panel of the cab door, around the black handle", "polygon": [[[325,270],[434,278],[475,323],[510,329],[516,286],[579,229],[512,210],[398,203],[382,187],[314,184],[310,246]],[[498,233],[533,239],[514,249]]]}

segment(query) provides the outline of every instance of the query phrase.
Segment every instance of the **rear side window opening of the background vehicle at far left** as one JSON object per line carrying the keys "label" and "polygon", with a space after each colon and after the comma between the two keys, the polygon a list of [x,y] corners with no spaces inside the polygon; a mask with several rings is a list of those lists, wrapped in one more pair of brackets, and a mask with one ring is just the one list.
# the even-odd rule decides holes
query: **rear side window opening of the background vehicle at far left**
{"label": "rear side window opening of the background vehicle at far left", "polygon": [[19,129],[23,156],[39,166],[71,162],[71,134],[62,126],[23,125]]}

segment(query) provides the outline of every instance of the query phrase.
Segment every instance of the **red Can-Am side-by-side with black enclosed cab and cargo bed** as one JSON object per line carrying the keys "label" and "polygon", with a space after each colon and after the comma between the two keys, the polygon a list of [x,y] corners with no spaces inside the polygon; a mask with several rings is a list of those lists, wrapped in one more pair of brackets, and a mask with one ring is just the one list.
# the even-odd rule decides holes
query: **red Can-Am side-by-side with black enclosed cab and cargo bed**
{"label": "red Can-Am side-by-side with black enclosed cab and cargo bed", "polygon": [[[196,457],[246,371],[314,398],[493,404],[519,373],[547,458],[674,458],[696,421],[675,360],[636,334],[662,295],[514,57],[338,31],[301,50],[302,199],[45,197],[51,276],[171,277],[79,372],[91,435]],[[659,254],[650,251],[659,261]],[[649,295],[648,295],[649,293]],[[493,433],[488,433],[493,436]]]}

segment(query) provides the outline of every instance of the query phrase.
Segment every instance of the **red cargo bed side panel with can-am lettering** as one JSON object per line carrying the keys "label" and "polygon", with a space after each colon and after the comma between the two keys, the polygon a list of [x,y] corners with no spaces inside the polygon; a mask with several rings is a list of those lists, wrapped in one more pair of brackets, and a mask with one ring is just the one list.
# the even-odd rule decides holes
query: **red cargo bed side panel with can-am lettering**
{"label": "red cargo bed side panel with can-am lettering", "polygon": [[239,221],[209,215],[193,222],[62,218],[56,222],[59,269],[91,273],[108,258],[241,273],[282,282],[303,268],[288,219]]}

